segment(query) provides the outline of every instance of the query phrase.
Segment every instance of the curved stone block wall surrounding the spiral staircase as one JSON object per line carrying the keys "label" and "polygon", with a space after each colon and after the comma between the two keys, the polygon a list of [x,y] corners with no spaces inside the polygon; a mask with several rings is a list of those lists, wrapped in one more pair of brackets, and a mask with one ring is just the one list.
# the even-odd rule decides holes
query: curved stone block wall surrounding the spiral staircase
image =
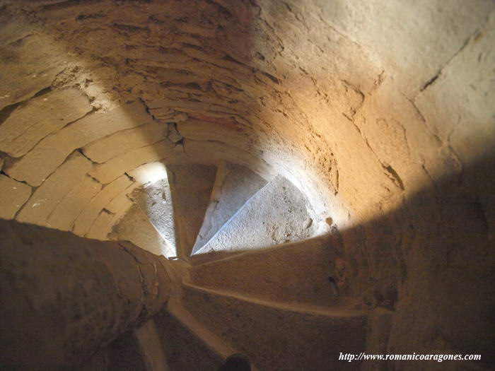
{"label": "curved stone block wall surrounding the spiral staircase", "polygon": [[488,349],[493,1],[1,4],[2,217],[105,238],[144,163],[281,173],[391,351]]}

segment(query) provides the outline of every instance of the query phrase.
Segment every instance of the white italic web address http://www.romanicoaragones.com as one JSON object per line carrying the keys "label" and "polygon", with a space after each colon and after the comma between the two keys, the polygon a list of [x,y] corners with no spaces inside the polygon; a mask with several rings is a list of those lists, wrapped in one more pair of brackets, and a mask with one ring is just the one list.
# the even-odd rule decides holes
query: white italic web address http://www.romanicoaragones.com
{"label": "white italic web address http://www.romanicoaragones.com", "polygon": [[479,354],[367,354],[361,352],[359,354],[340,353],[339,360],[347,360],[347,362],[359,360],[436,360],[443,362],[444,360],[481,360]]}

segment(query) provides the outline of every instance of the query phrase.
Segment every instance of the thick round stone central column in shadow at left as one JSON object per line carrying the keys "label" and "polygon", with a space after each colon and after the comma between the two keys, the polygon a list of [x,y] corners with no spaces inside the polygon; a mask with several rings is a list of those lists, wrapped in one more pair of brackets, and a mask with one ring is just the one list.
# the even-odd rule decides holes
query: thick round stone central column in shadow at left
{"label": "thick round stone central column in shadow at left", "polygon": [[0,365],[84,363],[165,305],[162,259],[130,242],[0,219]]}

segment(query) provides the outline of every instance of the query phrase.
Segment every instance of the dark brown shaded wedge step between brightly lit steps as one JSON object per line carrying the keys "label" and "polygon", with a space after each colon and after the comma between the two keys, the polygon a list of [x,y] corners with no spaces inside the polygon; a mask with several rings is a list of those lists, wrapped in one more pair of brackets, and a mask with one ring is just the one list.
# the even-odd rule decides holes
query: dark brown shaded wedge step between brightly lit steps
{"label": "dark brown shaded wedge step between brightly lit steps", "polygon": [[216,166],[168,165],[177,255],[189,259],[208,208]]}

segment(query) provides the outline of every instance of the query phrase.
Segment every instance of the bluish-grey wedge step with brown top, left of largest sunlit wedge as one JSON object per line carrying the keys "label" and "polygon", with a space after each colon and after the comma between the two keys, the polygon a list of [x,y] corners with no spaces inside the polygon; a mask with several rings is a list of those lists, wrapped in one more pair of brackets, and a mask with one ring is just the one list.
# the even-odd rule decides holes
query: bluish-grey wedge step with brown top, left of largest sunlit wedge
{"label": "bluish-grey wedge step with brown top, left of largest sunlit wedge", "polygon": [[234,164],[219,167],[204,223],[192,250],[193,254],[266,184],[266,180],[247,167]]}

